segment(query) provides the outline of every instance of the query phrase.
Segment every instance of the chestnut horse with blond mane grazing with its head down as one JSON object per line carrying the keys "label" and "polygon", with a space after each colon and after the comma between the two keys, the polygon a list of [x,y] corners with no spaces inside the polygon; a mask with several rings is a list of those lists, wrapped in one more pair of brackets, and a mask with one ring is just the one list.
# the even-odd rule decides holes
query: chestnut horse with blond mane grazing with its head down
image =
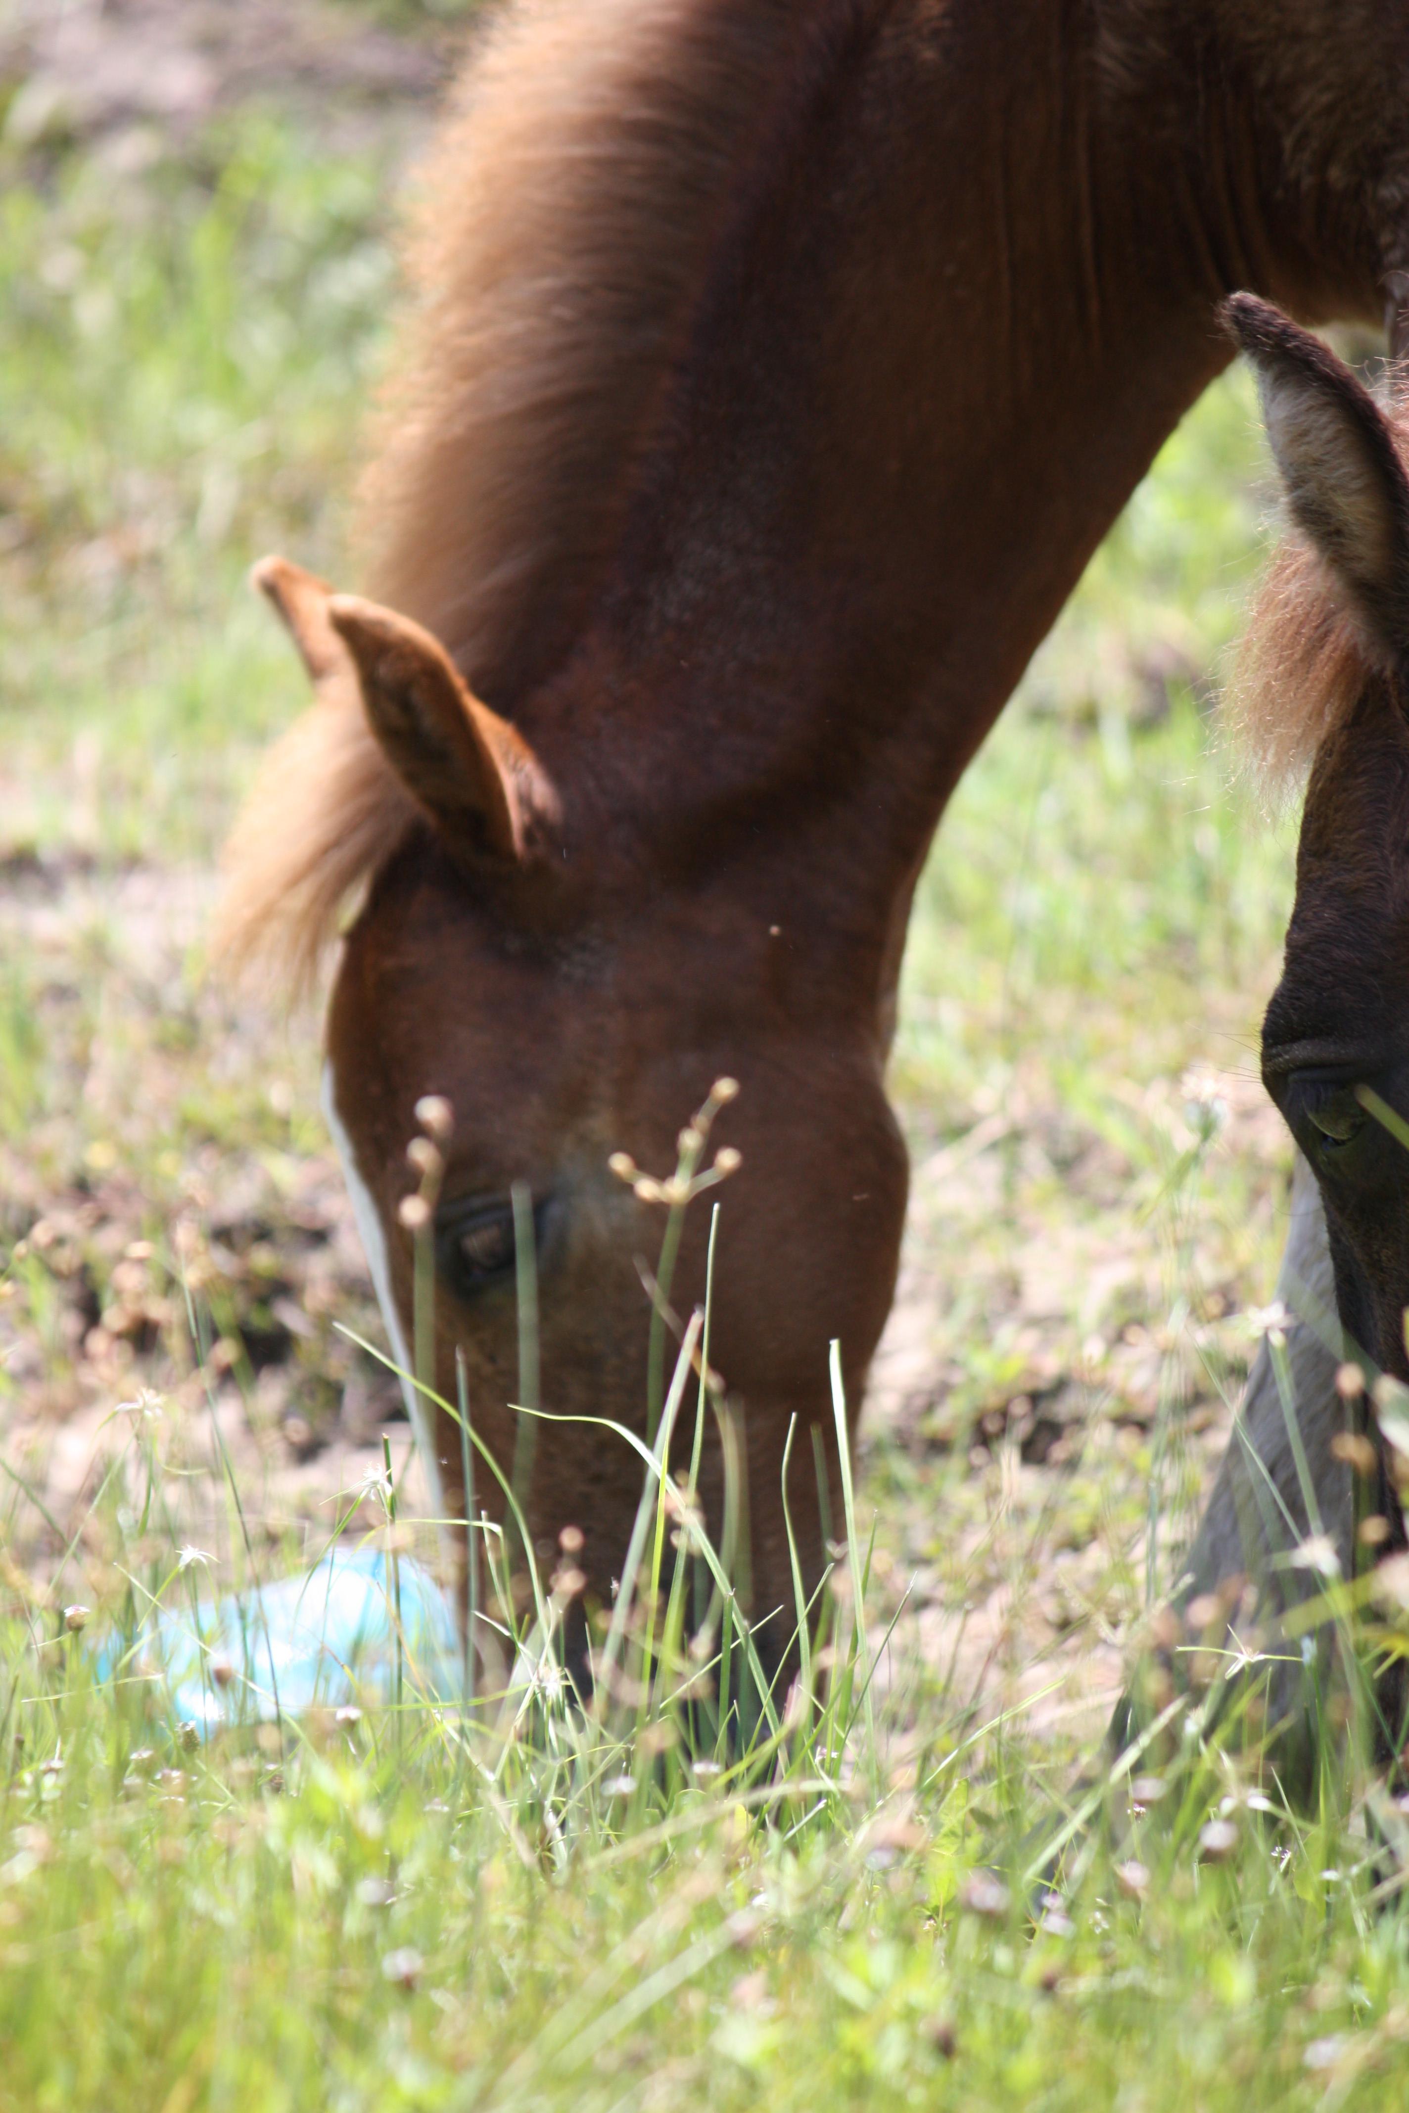
{"label": "chestnut horse with blond mane grazing with its head down", "polygon": [[[361,890],[330,1120],[406,1340],[406,1145],[420,1097],[452,1105],[435,1373],[454,1399],[463,1352],[505,1466],[511,1196],[543,1405],[642,1428],[634,1255],[659,1209],[608,1156],[668,1173],[680,1120],[739,1082],[710,1361],[741,1405],[767,1616],[792,1604],[790,1422],[811,1585],[828,1340],[856,1416],[891,1302],[883,1071],[936,822],[1225,366],[1225,296],[1379,315],[1409,264],[1409,15],[534,0],[484,36],[420,199],[361,503],[376,600],[262,575],[319,695],[239,824],[226,936],[306,974]],[[697,1207],[680,1310],[706,1230]],[[450,1420],[429,1460],[454,1515]],[[549,1426],[532,1536],[581,1528],[606,1597],[638,1490],[625,1445]],[[701,1494],[718,1521],[716,1452]]]}

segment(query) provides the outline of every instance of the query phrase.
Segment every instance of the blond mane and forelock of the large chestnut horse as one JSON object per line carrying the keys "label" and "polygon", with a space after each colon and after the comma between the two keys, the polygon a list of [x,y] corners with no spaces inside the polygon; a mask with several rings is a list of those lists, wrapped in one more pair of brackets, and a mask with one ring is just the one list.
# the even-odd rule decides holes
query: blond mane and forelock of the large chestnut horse
{"label": "blond mane and forelock of the large chestnut horse", "polygon": [[[416,182],[412,302],[374,420],[368,592],[513,710],[568,651],[756,156],[824,11],[522,0]],[[359,702],[321,699],[232,833],[218,942],[306,983],[414,807]]]}

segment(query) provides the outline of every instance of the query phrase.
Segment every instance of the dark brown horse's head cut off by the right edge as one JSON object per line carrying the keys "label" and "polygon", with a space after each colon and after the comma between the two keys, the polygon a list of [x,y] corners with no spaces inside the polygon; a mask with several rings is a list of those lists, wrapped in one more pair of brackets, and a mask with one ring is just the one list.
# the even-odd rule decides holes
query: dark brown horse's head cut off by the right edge
{"label": "dark brown horse's head cut off by the right edge", "polygon": [[[1348,1373],[1339,1447],[1356,1464],[1356,1532],[1344,1490],[1320,1492],[1352,1574],[1369,1551],[1405,1549],[1394,1447],[1365,1388],[1409,1380],[1409,393],[1394,363],[1377,404],[1253,296],[1227,321],[1257,370],[1291,513],[1244,649],[1253,733],[1276,763],[1312,763],[1263,1080],[1316,1177],[1346,1354],[1365,1380]],[[1403,1443],[1403,1418],[1392,1428]],[[1386,1724],[1403,1701],[1401,1669]]]}

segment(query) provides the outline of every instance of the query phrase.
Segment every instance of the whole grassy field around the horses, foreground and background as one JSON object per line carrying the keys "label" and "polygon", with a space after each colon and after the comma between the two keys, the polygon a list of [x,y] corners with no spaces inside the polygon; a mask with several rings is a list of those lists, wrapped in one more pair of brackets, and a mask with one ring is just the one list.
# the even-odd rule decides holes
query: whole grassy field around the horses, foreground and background
{"label": "whole grassy field around the horses, foreground and background", "polygon": [[[921,883],[894,1086],[921,1160],[1001,1135],[917,1219],[944,1384],[868,1431],[868,1640],[847,1572],[830,1701],[708,1773],[672,1701],[682,1633],[646,1695],[585,1724],[537,1697],[511,1728],[522,1693],[467,1724],[412,1667],[399,1709],[188,1750],[139,1667],[95,1684],[144,1593],[182,1606],[201,1574],[173,1576],[163,1507],[205,1473],[190,1433],[228,1382],[190,1342],[182,1270],[199,1253],[232,1342],[306,1240],[317,1035],[207,983],[201,904],[302,704],[243,573],[285,547],[346,577],[397,139],[389,120],[327,154],[268,108],[139,173],[80,150],[2,171],[0,393],[25,414],[0,431],[0,1443],[19,1473],[13,1433],[61,1435],[142,1382],[165,1414],[59,1532],[17,1481],[0,1500],[0,2107],[1403,2105],[1407,1925],[1373,1897],[1375,1828],[1403,1821],[1382,1802],[1371,1824],[1352,1743],[1327,1737],[1320,1800],[1289,1813],[1276,1756],[1259,1769],[1191,1701],[1130,1762],[1158,1800],[1132,1815],[1124,1779],[1098,1798],[1109,1828],[1075,1838],[1058,1908],[1029,1881],[1101,1722],[1090,1699],[1060,1714],[1075,1669],[1177,1570],[1200,1416],[1236,1390],[1238,1310],[1276,1255],[1276,1124],[1248,1086],[1202,1133],[1179,1086],[1196,1061],[1255,1069],[1291,900],[1291,830],[1210,708],[1259,537],[1236,378],[1094,562]],[[245,1183],[232,1253],[209,1221]],[[15,1247],[40,1211],[59,1230]],[[1056,1289],[1025,1289],[1046,1255],[1071,1257]],[[127,1363],[84,1363],[74,1285],[110,1312],[133,1266],[165,1319]],[[368,1325],[346,1297],[317,1310],[306,1386],[346,1357],[332,1319]],[[1001,1439],[1044,1388],[1075,1435],[1050,1473]],[[226,1521],[213,1589],[313,1547],[243,1496],[251,1540]],[[68,1631],[76,1600],[93,1616]],[[944,1627],[965,1602],[1012,1610],[997,1703]],[[1052,1697],[1020,1688],[1033,1669]],[[1219,1819],[1227,1840],[1204,1836]]]}

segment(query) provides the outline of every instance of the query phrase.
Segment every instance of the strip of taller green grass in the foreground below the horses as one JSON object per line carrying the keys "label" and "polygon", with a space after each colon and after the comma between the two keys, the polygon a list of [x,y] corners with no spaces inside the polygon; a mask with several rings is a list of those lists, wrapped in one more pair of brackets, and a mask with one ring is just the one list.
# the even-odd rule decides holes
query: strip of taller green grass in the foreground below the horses
{"label": "strip of taller green grass in the foreground below the horses", "polygon": [[[158,1511],[161,1477],[137,1426],[104,1500]],[[623,1593],[649,1608],[659,1576],[659,1619],[627,1623],[630,1684],[587,1718],[530,1669],[549,1612],[469,1718],[412,1663],[399,1707],[201,1747],[144,1676],[144,1591],[106,1610],[137,1642],[97,1686],[99,1623],[55,1610],[87,1555],[51,1595],[15,1581],[0,2105],[1403,2102],[1394,1859],[1333,1775],[1318,1811],[1278,1809],[1215,1735],[1217,1690],[1187,1697],[1160,1775],[1151,1745],[1096,1785],[1046,1893],[1069,1828],[1020,1722],[974,1726],[921,1665],[877,1699],[851,1593],[826,1699],[693,1758],[682,1682],[737,1693],[748,1640],[733,1688],[727,1610],[689,1654],[651,1475],[642,1521]],[[150,1581],[184,1606],[171,1553]]]}

